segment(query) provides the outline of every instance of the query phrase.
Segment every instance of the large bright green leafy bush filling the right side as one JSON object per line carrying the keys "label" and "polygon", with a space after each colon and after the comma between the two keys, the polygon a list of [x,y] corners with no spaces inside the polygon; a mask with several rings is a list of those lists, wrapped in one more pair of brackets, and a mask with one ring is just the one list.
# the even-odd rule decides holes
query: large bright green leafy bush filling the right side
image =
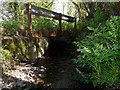
{"label": "large bright green leafy bush filling the right side", "polygon": [[119,23],[120,17],[111,17],[105,25],[88,27],[94,32],[92,35],[76,40],[80,55],[74,59],[74,63],[85,76],[80,78],[82,82],[92,82],[95,87],[111,87],[120,80]]}

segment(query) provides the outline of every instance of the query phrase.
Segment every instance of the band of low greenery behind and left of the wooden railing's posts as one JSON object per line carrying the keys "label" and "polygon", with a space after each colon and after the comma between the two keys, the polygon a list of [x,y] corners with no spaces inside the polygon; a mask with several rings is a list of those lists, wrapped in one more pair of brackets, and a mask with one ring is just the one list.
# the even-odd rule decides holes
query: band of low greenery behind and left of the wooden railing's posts
{"label": "band of low greenery behind and left of the wooden railing's posts", "polygon": [[[16,35],[17,32],[21,33],[21,26],[23,27],[23,32],[27,30],[27,17],[24,16],[21,19],[13,19],[11,21],[4,20],[2,23],[4,27],[3,34],[9,36]],[[74,28],[73,24],[63,22],[62,30],[72,31]],[[49,34],[50,32],[57,32],[59,30],[59,23],[56,20],[32,17],[32,31],[41,32],[43,34]],[[25,35],[25,34],[24,34]]]}

